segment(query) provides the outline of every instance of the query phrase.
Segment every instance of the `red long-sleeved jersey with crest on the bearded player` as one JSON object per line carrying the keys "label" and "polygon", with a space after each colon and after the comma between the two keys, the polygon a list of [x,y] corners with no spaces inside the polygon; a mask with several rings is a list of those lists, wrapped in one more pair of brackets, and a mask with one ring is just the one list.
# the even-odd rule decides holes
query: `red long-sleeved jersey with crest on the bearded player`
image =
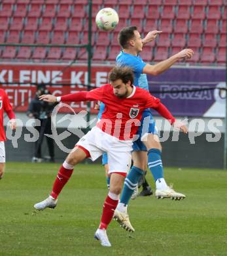
{"label": "red long-sleeved jersey with crest on the bearded player", "polygon": [[105,111],[101,120],[97,122],[105,133],[117,137],[120,140],[133,139],[140,126],[140,120],[145,108],[154,108],[171,123],[175,121],[167,108],[145,89],[133,86],[133,91],[127,98],[119,98],[113,93],[113,86],[103,85],[92,91],[83,91],[71,95],[61,96],[61,101],[100,100],[105,104]]}

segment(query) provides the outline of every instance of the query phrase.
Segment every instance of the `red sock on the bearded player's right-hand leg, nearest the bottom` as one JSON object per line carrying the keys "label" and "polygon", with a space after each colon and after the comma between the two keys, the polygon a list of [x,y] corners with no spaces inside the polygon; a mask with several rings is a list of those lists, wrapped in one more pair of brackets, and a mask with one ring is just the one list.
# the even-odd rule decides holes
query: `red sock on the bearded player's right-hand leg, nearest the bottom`
{"label": "red sock on the bearded player's right-hand leg, nearest the bottom", "polygon": [[100,229],[103,229],[103,228],[107,229],[107,226],[113,219],[116,205],[118,205],[118,200],[113,200],[108,195],[103,205],[103,215],[101,216],[101,223],[99,225]]}

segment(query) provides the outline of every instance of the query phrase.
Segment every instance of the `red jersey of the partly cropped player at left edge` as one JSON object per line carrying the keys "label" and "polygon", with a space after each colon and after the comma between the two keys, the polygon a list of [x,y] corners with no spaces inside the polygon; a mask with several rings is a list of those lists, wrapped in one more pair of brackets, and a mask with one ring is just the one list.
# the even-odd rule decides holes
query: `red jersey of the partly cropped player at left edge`
{"label": "red jersey of the partly cropped player at left edge", "polygon": [[15,114],[12,111],[12,106],[9,102],[9,98],[7,96],[7,93],[3,89],[0,89],[0,141],[4,141],[7,138],[5,137],[5,130],[3,127],[3,113],[7,112],[7,116],[9,116],[9,119],[14,119]]}

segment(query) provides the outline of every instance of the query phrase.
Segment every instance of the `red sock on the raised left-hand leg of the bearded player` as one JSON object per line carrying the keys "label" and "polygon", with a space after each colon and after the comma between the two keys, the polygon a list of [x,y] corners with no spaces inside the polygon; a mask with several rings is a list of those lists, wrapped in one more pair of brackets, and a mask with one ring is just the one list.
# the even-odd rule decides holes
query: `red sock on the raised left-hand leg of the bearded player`
{"label": "red sock on the raised left-hand leg of the bearded player", "polygon": [[61,165],[50,196],[52,196],[54,199],[58,198],[58,195],[60,194],[63,186],[65,186],[72,173],[73,169],[66,169],[63,167],[63,165]]}

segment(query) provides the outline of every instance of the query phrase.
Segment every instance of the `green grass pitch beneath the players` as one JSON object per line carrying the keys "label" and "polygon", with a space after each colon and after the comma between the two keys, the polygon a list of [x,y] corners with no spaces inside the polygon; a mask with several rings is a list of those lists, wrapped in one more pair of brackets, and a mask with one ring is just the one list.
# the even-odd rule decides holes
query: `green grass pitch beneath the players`
{"label": "green grass pitch beneath the players", "polygon": [[7,163],[0,181],[0,255],[227,255],[227,171],[166,168],[167,182],[186,199],[131,200],[135,233],[113,221],[112,247],[102,247],[94,240],[107,194],[101,165],[77,165],[56,209],[33,210],[50,193],[59,166]]}

